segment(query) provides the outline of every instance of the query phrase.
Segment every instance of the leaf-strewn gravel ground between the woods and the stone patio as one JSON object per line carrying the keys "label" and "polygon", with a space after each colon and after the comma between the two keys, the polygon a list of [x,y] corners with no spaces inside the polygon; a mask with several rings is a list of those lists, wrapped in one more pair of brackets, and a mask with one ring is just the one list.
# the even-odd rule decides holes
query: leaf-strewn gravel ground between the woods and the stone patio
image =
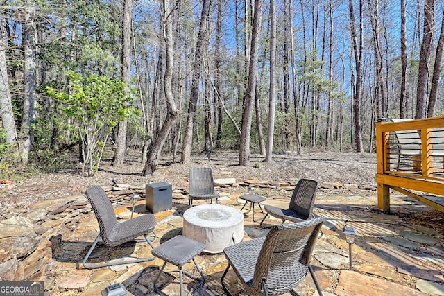
{"label": "leaf-strewn gravel ground between the woods and the stone patio", "polygon": [[122,168],[110,166],[111,156],[105,155],[94,177],[81,177],[77,168],[29,177],[11,189],[0,191],[1,219],[26,211],[37,200],[59,198],[64,195],[83,194],[92,184],[111,186],[117,178],[121,184],[142,185],[153,182],[169,182],[175,188],[186,189],[189,168],[210,166],[214,178],[234,177],[237,180],[297,182],[310,178],[319,182],[375,186],[376,155],[370,153],[276,153],[272,162],[252,155],[249,166],[239,166],[239,153],[216,152],[208,159],[205,155],[193,155],[190,164],[173,162],[165,155],[151,177],[142,177],[140,154],[131,150]]}

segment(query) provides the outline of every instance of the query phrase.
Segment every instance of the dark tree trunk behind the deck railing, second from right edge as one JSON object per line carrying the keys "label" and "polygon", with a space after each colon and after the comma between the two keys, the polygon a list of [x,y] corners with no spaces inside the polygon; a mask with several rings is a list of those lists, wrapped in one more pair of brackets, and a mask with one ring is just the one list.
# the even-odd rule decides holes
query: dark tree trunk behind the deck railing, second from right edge
{"label": "dark tree trunk behind the deck railing, second from right edge", "polygon": [[429,84],[429,58],[432,51],[432,37],[435,27],[435,1],[424,3],[424,35],[419,53],[418,88],[416,92],[415,119],[423,119],[426,114],[427,87]]}

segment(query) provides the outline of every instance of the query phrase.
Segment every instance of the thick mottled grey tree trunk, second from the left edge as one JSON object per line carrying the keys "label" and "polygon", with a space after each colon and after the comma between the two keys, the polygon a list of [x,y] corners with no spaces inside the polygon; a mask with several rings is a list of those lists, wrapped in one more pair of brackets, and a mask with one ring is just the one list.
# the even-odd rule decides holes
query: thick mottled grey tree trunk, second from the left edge
{"label": "thick mottled grey tree trunk, second from the left edge", "polygon": [[36,40],[37,29],[35,27],[35,7],[27,7],[23,13],[23,46],[24,46],[24,104],[23,120],[20,129],[20,145],[22,150],[22,161],[28,162],[33,141],[30,133],[31,124],[37,116],[35,104],[37,101],[37,69],[36,69]]}

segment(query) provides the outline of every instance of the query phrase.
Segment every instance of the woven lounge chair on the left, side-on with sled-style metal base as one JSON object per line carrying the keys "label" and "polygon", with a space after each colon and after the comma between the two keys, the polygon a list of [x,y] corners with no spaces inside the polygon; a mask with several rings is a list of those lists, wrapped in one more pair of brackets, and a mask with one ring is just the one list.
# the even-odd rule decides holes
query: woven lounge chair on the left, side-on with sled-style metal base
{"label": "woven lounge chair on the left, side-on with sled-style metal base", "polygon": [[[99,223],[100,232],[96,237],[94,243],[89,248],[85,258],[83,259],[83,266],[88,269],[101,268],[103,266],[130,264],[143,261],[151,261],[152,258],[135,259],[133,261],[115,261],[112,263],[96,263],[89,264],[87,260],[91,255],[92,250],[96,247],[97,243],[101,239],[107,247],[116,247],[128,241],[133,241],[139,236],[144,236],[148,245],[153,247],[153,244],[148,238],[148,234],[153,234],[155,238],[154,227],[156,225],[156,219],[153,214],[146,214],[138,216],[136,218],[126,220],[123,222],[117,221],[114,209],[110,202],[110,199],[106,195],[105,191],[100,186],[89,187],[86,191],[87,198],[91,203],[94,214],[96,214],[97,222]],[[152,238],[152,239],[154,239]]]}

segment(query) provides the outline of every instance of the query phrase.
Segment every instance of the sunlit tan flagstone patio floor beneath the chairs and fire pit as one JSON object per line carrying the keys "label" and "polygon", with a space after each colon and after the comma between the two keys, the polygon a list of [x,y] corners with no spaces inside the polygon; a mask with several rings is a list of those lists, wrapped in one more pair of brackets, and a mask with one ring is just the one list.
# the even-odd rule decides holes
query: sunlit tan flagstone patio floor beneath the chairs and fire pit
{"label": "sunlit tan flagstone patio floor beneath the chairs and fire pit", "polygon": [[[241,209],[242,193],[226,193],[219,198],[221,204]],[[207,201],[198,201],[196,204]],[[285,207],[287,200],[268,198],[262,204]],[[407,197],[392,195],[392,214],[382,214],[376,209],[376,196],[326,196],[316,198],[315,214],[325,217],[323,237],[314,248],[311,265],[321,285],[323,295],[444,295],[444,235],[428,227],[407,225],[396,214],[403,208],[425,211],[430,209]],[[173,209],[161,211],[157,217],[157,239],[154,245],[181,234],[182,214],[188,209],[188,199],[173,199]],[[130,205],[116,207],[121,218],[130,217]],[[257,209],[258,210],[258,209]],[[244,210],[245,211],[245,210]],[[144,199],[136,204],[137,214],[146,213]],[[256,211],[256,218],[261,215]],[[117,265],[114,267],[86,270],[81,265],[85,250],[97,235],[98,226],[94,214],[81,220],[69,237],[62,237],[59,248],[53,252],[56,258],[54,274],[59,277],[52,295],[101,295],[101,290],[110,284],[121,283],[128,295],[155,295],[153,281],[163,261],[155,259],[144,263]],[[267,218],[267,223],[278,224],[280,220]],[[352,270],[349,269],[348,244],[341,229],[355,227],[356,243],[352,245]],[[266,235],[267,230],[254,223],[251,213],[244,220],[244,241]],[[125,244],[108,250],[98,247],[92,260],[119,258],[133,253],[151,256],[146,243]],[[223,254],[200,254],[196,261],[203,269],[207,281],[200,283],[184,276],[185,295],[224,295],[221,275],[226,267]],[[185,265],[185,270],[194,272],[194,264]],[[167,264],[167,272],[160,279],[162,291],[167,295],[179,295],[179,279],[176,266]],[[237,277],[230,270],[229,285],[238,295],[245,295]],[[301,295],[318,295],[310,275],[296,288]],[[290,294],[285,294],[290,295]]]}

